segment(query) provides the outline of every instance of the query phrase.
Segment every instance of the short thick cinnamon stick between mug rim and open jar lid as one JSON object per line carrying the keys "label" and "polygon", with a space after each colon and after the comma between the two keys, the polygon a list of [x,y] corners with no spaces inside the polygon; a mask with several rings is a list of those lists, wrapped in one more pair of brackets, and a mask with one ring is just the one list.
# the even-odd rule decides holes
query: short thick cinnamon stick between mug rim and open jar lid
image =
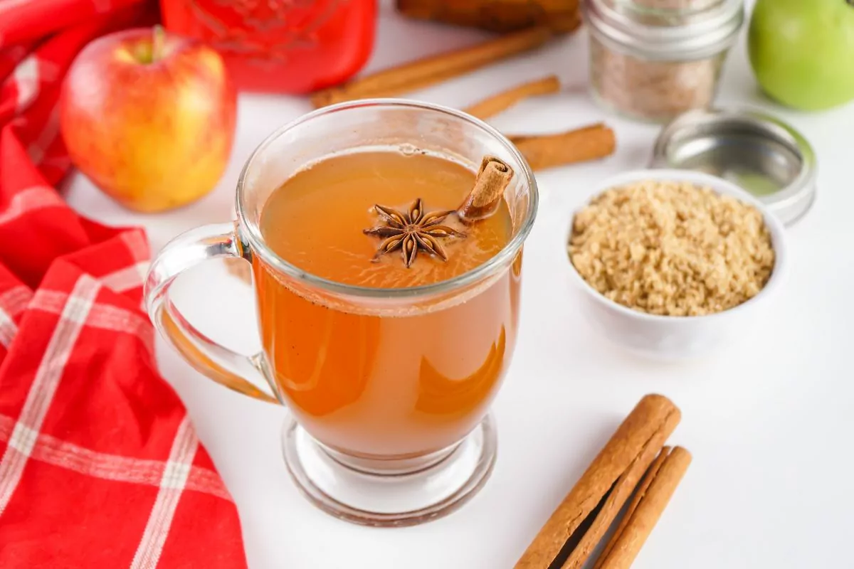
{"label": "short thick cinnamon stick between mug rim and open jar lid", "polygon": [[598,160],[617,148],[614,131],[601,123],[558,134],[508,137],[535,171]]}

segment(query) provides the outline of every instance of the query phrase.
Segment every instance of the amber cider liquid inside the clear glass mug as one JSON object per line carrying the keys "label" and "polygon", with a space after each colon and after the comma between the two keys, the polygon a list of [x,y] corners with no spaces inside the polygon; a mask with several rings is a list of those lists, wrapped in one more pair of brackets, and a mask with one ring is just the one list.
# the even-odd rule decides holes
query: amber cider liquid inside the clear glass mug
{"label": "amber cider liquid inside the clear glass mug", "polygon": [[[442,242],[447,260],[419,251],[407,267],[394,251],[374,260],[381,239],[375,204],[406,212],[454,210],[475,175],[429,154],[356,152],[298,172],[268,198],[261,235],[301,270],[358,287],[418,287],[452,279],[506,247],[506,205]],[[254,263],[262,342],[278,388],[301,425],[332,449],[368,457],[442,450],[483,417],[516,340],[519,276],[507,270],[483,290],[446,306],[404,307],[380,316],[330,307],[295,292]]]}

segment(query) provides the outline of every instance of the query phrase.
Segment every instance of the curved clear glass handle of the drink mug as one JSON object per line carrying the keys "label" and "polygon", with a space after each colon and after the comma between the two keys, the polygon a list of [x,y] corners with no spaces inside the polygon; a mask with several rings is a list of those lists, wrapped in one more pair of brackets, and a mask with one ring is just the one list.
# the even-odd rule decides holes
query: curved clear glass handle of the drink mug
{"label": "curved clear glass handle of the drink mug", "polygon": [[[236,392],[281,404],[262,352],[245,356],[219,345],[181,315],[169,299],[169,288],[190,267],[212,258],[241,258],[249,252],[237,238],[234,224],[204,225],[178,235],[155,257],[145,277],[144,303],[155,328],[197,371]],[[247,380],[260,376],[266,389]]]}

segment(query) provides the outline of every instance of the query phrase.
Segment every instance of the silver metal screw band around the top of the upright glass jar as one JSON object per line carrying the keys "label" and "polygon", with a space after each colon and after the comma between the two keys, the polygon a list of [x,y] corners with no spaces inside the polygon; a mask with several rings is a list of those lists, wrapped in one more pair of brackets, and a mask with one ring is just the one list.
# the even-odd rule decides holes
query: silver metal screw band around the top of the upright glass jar
{"label": "silver metal screw band around the top of the upright glass jar", "polygon": [[602,44],[656,61],[717,55],[734,44],[744,23],[743,0],[669,16],[630,9],[614,0],[583,0],[582,14]]}

